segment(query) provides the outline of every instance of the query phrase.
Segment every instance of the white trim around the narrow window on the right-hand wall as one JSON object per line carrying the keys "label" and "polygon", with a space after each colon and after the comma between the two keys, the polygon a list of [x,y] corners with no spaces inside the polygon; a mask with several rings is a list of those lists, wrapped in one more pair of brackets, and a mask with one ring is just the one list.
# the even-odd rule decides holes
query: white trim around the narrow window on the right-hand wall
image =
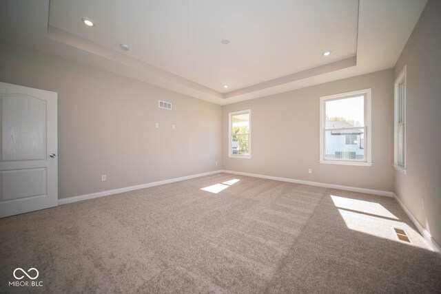
{"label": "white trim around the narrow window on the right-hand wall", "polygon": [[[398,165],[398,104],[400,83],[404,81],[404,167]],[[398,74],[393,84],[393,168],[407,174],[407,65]]]}

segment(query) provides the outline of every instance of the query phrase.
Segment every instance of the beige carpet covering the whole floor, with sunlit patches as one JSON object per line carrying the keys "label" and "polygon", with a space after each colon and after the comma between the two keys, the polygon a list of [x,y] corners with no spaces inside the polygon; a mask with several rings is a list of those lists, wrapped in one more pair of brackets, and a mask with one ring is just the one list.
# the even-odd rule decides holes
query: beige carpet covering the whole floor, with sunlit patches
{"label": "beige carpet covering the whole floor, with sunlit patches", "polygon": [[0,293],[441,292],[393,198],[230,174],[3,218],[0,248]]}

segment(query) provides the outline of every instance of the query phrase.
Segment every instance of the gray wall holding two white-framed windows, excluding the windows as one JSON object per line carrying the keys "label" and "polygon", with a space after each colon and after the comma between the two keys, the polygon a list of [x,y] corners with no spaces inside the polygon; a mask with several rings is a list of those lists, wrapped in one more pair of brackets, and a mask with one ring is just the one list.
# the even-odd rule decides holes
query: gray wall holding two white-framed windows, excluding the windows
{"label": "gray wall holding two white-framed windows, excluding the windows", "polygon": [[[372,89],[371,167],[320,164],[320,96]],[[252,158],[228,157],[228,112],[252,111]],[[393,189],[393,70],[223,107],[223,168],[336,185]],[[313,169],[308,174],[308,168]]]}

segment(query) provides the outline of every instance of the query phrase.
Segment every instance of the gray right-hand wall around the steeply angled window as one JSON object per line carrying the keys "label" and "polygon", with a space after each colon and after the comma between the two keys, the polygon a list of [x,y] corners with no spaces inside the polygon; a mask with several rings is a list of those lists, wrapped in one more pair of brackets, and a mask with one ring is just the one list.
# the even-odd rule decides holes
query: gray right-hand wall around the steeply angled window
{"label": "gray right-hand wall around the steeply angled window", "polygon": [[[441,244],[441,1],[429,1],[398,59],[407,65],[407,174],[396,195]],[[424,197],[424,209],[421,198]]]}

